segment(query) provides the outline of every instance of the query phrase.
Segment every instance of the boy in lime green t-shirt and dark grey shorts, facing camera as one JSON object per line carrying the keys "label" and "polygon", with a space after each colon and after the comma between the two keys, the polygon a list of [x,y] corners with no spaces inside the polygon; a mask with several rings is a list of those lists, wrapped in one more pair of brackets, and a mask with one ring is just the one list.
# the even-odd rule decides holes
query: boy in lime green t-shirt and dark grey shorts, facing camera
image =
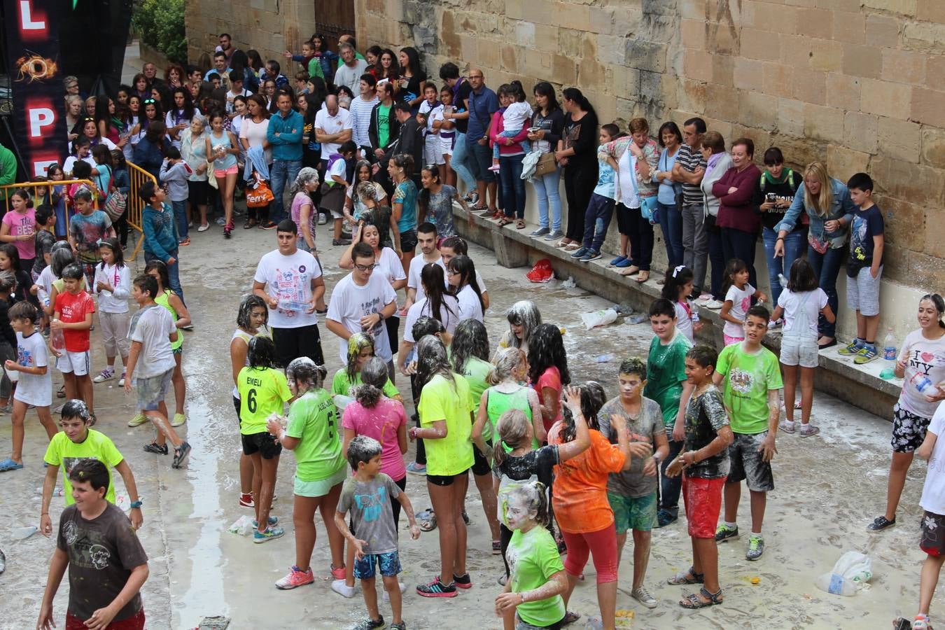
{"label": "boy in lime green t-shirt and dark grey shorts, facing camera", "polygon": [[718,356],[713,383],[722,385],[722,398],[729,412],[734,441],[729,447],[730,470],[725,483],[725,520],[715,531],[715,541],[738,537],[738,502],[744,479],[751,493],[751,536],[747,560],[765,553],[762,522],[767,492],[774,489],[771,459],[778,452],[775,435],[781,415],[779,392],[783,387],[781,366],[774,352],[762,346],[771,315],[755,304],[745,315],[745,339],[726,346]]}

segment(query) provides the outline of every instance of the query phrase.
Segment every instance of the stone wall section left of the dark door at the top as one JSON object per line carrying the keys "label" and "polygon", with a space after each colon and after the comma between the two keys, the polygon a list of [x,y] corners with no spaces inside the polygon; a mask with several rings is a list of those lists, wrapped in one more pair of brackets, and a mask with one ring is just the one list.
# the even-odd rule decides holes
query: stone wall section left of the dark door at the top
{"label": "stone wall section left of the dark door at the top", "polygon": [[220,33],[230,33],[240,50],[255,48],[263,60],[278,60],[289,77],[300,68],[287,63],[283,51],[301,50],[303,40],[315,32],[315,0],[231,0],[187,2],[187,57],[197,61],[203,53],[213,57]]}

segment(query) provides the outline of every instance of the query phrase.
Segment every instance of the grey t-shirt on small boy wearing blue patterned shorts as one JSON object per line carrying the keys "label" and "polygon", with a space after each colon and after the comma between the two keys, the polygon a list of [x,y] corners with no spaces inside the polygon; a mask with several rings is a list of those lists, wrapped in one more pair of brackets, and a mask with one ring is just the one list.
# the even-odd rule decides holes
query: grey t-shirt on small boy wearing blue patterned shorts
{"label": "grey t-shirt on small boy wearing blue patterned shorts", "polygon": [[364,553],[397,551],[397,525],[390,502],[400,493],[401,488],[383,472],[369,482],[349,477],[341,486],[338,512],[351,512],[354,536],[368,542]]}

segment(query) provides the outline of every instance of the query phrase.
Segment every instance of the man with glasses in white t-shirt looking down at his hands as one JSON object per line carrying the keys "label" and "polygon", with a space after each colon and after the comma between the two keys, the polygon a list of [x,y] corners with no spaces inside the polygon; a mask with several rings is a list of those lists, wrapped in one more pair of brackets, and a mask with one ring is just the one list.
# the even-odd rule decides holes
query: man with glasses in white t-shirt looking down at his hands
{"label": "man with glasses in white t-shirt looking down at his hands", "polygon": [[355,332],[365,332],[374,339],[374,356],[384,359],[393,371],[393,353],[384,320],[397,310],[397,294],[384,274],[373,273],[374,250],[367,243],[352,248],[352,260],[354,269],[332,291],[325,326],[338,335],[342,365],[348,362],[348,339]]}

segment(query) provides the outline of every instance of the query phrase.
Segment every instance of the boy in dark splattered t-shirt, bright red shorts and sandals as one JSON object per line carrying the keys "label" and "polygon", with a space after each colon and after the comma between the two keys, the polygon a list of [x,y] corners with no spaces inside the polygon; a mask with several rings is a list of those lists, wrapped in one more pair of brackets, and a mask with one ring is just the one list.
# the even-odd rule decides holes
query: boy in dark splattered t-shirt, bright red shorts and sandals
{"label": "boy in dark splattered t-shirt, bright red shorts and sandals", "polygon": [[717,360],[711,346],[696,346],[686,354],[686,378],[695,387],[686,404],[686,450],[666,468],[666,474],[673,477],[685,472],[682,496],[693,541],[693,566],[670,578],[669,584],[705,585],[697,594],[679,600],[684,608],[722,603],[715,523],[729,474],[728,450],[733,436],[722,393],[713,384]]}

